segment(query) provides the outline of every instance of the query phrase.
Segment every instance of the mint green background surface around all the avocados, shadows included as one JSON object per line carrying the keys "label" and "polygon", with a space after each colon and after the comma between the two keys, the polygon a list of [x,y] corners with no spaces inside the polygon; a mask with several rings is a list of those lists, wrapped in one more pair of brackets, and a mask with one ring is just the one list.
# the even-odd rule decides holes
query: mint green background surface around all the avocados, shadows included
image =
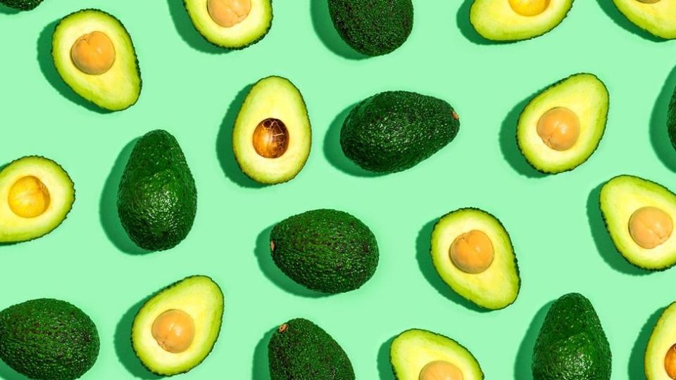
{"label": "mint green background surface around all the avocados, shadows included", "polygon": [[[408,42],[388,56],[356,60],[337,40],[324,3],[275,1],[268,36],[230,53],[199,37],[179,0],[46,0],[20,14],[0,8],[0,161],[52,158],[77,190],[56,231],[0,247],[0,308],[69,300],[101,335],[99,360],[84,379],[149,378],[127,341],[139,303],[177,279],[207,274],[225,293],[223,329],[206,361],[177,378],[267,379],[269,331],[303,316],[342,344],[358,379],[392,379],[389,340],[413,327],[463,343],[488,379],[529,379],[546,307],[579,291],[608,334],[613,379],[642,379],[644,346],[661,308],[676,298],[676,272],[643,275],[626,264],[596,203],[599,185],[622,173],[676,187],[676,156],[664,132],[676,84],[672,42],[646,38],[609,0],[584,0],[544,37],[490,46],[468,28],[470,1],[415,0]],[[132,35],[144,87],[129,110],[82,106],[54,72],[54,23],[87,7],[117,16]],[[538,177],[516,150],[515,120],[525,99],[575,72],[592,72],[608,86],[606,135],[581,167]],[[313,149],[292,182],[258,188],[235,165],[229,135],[247,86],[273,74],[303,93]],[[412,170],[368,177],[346,162],[337,136],[347,108],[387,89],[446,99],[461,115],[461,131]],[[135,255],[120,229],[115,191],[132,141],[156,128],[180,141],[199,209],[180,246]],[[513,239],[522,289],[506,310],[477,312],[432,270],[434,220],[465,206],[499,217]],[[349,211],[375,232],[380,266],[362,289],[314,297],[270,261],[270,226],[313,208]],[[0,377],[22,379],[5,365]]]}

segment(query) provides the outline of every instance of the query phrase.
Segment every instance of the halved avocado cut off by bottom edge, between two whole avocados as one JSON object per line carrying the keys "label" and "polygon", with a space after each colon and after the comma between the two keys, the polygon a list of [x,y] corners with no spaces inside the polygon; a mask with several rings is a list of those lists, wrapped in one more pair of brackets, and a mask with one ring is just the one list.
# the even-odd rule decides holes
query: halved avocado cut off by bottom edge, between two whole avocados
{"label": "halved avocado cut off by bottom edge, between two whole avocados", "polygon": [[389,350],[397,380],[482,380],[479,362],[467,348],[446,336],[411,329],[399,334]]}

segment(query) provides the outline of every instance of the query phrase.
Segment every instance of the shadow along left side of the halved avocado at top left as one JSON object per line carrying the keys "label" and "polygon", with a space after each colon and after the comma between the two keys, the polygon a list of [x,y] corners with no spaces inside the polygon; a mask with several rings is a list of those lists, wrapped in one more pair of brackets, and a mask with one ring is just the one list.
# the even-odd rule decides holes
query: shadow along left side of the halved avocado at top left
{"label": "shadow along left side of the halved avocado at top left", "polygon": [[51,57],[51,37],[52,34],[54,34],[54,28],[56,28],[58,22],[59,20],[56,20],[44,27],[37,39],[37,62],[39,63],[42,75],[44,75],[47,82],[51,84],[51,87],[54,87],[54,89],[56,89],[56,91],[58,91],[65,99],[96,113],[111,113],[110,110],[100,108],[99,106],[96,106],[96,104],[75,93],[73,89],[68,87],[68,84],[63,82],[61,75],[58,75],[56,67],[54,66],[54,59]]}

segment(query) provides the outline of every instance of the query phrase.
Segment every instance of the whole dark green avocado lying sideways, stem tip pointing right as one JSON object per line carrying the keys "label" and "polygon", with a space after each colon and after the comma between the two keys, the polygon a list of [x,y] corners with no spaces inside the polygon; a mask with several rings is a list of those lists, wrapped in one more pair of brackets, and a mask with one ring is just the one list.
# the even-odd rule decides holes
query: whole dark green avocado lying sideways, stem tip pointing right
{"label": "whole dark green avocado lying sideways, stem tip pointing right", "polygon": [[441,99],[408,91],[381,92],[350,111],[340,145],[345,156],[365,170],[400,172],[453,141],[459,120]]}

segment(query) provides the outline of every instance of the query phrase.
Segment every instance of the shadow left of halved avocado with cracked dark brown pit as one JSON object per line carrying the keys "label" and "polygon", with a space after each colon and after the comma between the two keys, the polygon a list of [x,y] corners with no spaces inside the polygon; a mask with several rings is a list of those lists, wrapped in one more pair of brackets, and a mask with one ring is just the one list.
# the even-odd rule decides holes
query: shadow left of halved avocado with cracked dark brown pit
{"label": "shadow left of halved avocado with cracked dark brown pit", "polygon": [[244,99],[246,99],[246,95],[249,94],[252,86],[253,84],[247,84],[240,90],[227,108],[223,122],[220,123],[220,128],[218,129],[218,137],[216,137],[216,156],[218,156],[218,162],[220,163],[221,169],[223,169],[225,175],[230,178],[232,182],[242,187],[260,189],[261,187],[265,187],[265,184],[259,184],[247,177],[244,172],[242,172],[242,169],[239,168],[237,160],[234,158],[234,152],[232,151],[232,128],[234,127],[234,120],[237,119],[239,109],[242,108],[242,103],[244,103]]}

